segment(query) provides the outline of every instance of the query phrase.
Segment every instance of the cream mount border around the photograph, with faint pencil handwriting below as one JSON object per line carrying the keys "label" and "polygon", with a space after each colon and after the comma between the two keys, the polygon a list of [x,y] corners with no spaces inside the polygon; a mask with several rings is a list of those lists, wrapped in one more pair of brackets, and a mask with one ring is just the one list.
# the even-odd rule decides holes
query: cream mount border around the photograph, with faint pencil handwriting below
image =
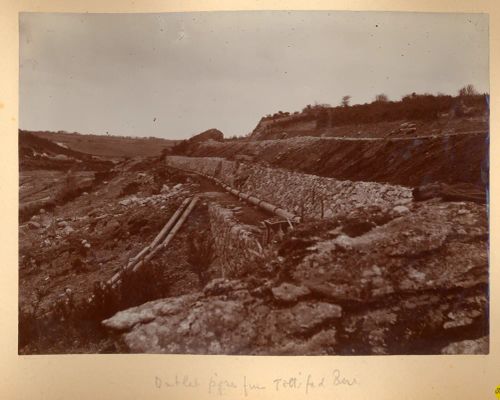
{"label": "cream mount border around the photograph, with faint pencil handwriting below", "polygon": [[[490,16],[490,154],[498,148],[500,4],[492,1],[7,1],[0,13],[2,132],[2,326],[0,397],[5,399],[494,399],[500,385],[498,158],[490,157],[490,354],[454,356],[206,356],[17,354],[19,12],[358,10],[483,12]],[[323,387],[319,385],[326,377]],[[293,380],[295,378],[295,380]],[[276,382],[279,380],[279,382]],[[307,381],[314,381],[314,388]],[[283,382],[294,384],[283,385]],[[231,387],[231,384],[237,388]],[[300,384],[300,385],[299,385]],[[295,385],[295,387],[294,387]],[[259,389],[266,386],[266,389]],[[300,387],[299,387],[300,386]]]}

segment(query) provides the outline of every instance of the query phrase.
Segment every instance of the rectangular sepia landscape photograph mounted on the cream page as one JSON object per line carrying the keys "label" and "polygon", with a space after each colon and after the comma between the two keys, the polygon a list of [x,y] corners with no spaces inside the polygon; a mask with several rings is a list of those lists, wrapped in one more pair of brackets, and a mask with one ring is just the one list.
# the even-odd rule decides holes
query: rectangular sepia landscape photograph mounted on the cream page
{"label": "rectangular sepia landscape photograph mounted on the cream page", "polygon": [[21,12],[18,354],[489,354],[489,85],[481,13]]}

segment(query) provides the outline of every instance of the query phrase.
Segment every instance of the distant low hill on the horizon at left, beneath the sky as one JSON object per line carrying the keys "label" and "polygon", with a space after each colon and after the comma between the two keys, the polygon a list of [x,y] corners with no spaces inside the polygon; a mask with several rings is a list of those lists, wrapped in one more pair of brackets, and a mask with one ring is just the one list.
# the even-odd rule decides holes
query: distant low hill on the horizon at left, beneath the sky
{"label": "distant low hill on the horizon at left, beneath the sky", "polygon": [[131,138],[47,131],[31,133],[82,153],[107,158],[157,156],[163,149],[177,143],[176,140],[160,138]]}

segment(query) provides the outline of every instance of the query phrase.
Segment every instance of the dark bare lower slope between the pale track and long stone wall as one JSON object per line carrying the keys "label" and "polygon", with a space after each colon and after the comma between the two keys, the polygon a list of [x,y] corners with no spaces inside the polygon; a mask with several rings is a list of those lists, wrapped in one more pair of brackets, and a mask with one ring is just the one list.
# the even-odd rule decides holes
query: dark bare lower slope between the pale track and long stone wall
{"label": "dark bare lower slope between the pale track and long stone wall", "polygon": [[224,157],[354,181],[418,186],[435,181],[484,186],[488,133],[408,138],[295,137],[259,141],[207,141],[185,155]]}

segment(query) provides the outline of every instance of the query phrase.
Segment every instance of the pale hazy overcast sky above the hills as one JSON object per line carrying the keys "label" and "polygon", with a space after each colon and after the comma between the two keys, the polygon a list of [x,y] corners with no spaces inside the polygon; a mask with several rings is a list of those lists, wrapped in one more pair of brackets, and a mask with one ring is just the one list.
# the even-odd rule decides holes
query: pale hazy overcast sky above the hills
{"label": "pale hazy overcast sky above the hills", "polygon": [[20,14],[20,128],[182,139],[307,104],[489,92],[488,16]]}

